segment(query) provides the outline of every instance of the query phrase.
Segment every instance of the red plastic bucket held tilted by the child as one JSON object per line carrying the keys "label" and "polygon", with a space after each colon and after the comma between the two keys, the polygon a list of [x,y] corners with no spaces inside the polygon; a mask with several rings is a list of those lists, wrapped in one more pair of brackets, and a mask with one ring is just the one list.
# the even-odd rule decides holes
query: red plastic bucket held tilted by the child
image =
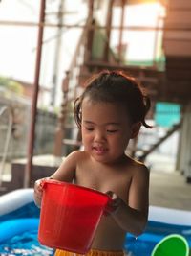
{"label": "red plastic bucket held tilted by the child", "polygon": [[110,198],[96,190],[55,180],[45,181],[43,189],[39,242],[87,253]]}

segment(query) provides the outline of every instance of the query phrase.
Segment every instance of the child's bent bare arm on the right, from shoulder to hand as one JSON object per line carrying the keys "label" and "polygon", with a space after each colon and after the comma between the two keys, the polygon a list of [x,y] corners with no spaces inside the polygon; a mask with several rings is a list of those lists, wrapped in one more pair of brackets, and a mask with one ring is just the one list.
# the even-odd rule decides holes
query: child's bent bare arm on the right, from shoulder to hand
{"label": "child's bent bare arm on the right, from shoulder to hand", "polygon": [[149,197],[149,171],[145,166],[136,170],[129,189],[129,203],[118,198],[115,193],[109,195],[113,198],[114,211],[112,217],[117,224],[127,232],[136,236],[145,228],[148,219]]}

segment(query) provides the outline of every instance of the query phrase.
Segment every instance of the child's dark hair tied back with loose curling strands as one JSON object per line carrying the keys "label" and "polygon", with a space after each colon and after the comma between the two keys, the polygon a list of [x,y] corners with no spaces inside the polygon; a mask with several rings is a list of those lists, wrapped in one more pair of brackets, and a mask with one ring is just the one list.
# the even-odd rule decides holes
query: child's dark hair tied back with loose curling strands
{"label": "child's dark hair tied back with loose curling strands", "polygon": [[149,97],[133,77],[121,71],[104,70],[85,83],[85,90],[74,102],[74,119],[81,128],[81,106],[85,97],[91,101],[124,105],[133,123],[141,122],[145,128],[151,128],[145,122],[150,109]]}

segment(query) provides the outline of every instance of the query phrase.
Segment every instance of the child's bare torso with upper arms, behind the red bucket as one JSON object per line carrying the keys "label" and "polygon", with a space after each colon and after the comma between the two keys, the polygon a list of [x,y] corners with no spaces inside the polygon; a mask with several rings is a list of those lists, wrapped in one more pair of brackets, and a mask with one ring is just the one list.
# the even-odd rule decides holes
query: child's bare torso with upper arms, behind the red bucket
{"label": "child's bare torso with upper arms, behind the red bucket", "polygon": [[[142,193],[145,190],[142,184],[145,184],[145,179],[148,178],[148,170],[143,164],[126,155],[122,161],[120,159],[118,163],[107,165],[96,162],[85,151],[74,151],[53,174],[53,178],[74,182],[103,193],[113,191],[130,207],[146,211],[146,208],[142,208],[147,200],[147,195]],[[122,249],[125,234],[126,230],[119,226],[112,216],[103,216],[97,227],[92,248]]]}

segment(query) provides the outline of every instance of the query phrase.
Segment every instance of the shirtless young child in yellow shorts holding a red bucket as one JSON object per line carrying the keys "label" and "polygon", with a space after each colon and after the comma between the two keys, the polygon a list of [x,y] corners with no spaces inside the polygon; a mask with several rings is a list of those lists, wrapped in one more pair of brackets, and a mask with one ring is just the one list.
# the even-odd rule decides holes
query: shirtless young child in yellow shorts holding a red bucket
{"label": "shirtless young child in yellow shorts holding a red bucket", "polygon": [[[112,198],[115,210],[101,219],[87,255],[122,256],[126,232],[140,235],[148,217],[149,171],[125,150],[141,125],[150,128],[145,123],[150,100],[137,81],[119,71],[103,71],[86,85],[74,103],[84,150],[68,155],[51,178],[96,189]],[[34,185],[38,206],[41,180]],[[72,253],[56,250],[55,255]]]}

